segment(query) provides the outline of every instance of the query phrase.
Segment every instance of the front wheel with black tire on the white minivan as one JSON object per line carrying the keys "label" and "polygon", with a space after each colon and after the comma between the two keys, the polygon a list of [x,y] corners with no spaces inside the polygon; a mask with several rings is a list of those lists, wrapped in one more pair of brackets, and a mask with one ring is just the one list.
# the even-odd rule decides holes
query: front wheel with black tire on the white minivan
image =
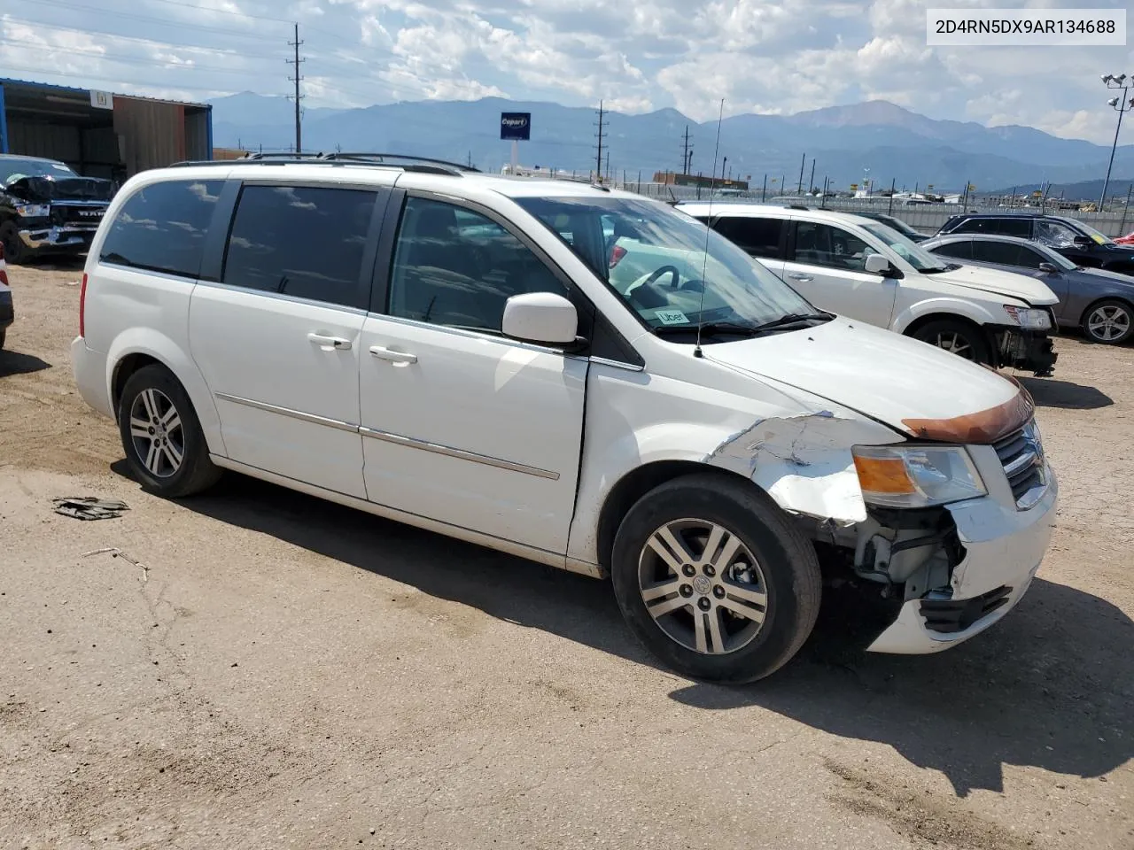
{"label": "front wheel with black tire on the white minivan", "polygon": [[814,546],[767,495],[722,475],[685,476],[644,495],[615,537],[611,572],[638,639],[694,679],[770,675],[819,614]]}

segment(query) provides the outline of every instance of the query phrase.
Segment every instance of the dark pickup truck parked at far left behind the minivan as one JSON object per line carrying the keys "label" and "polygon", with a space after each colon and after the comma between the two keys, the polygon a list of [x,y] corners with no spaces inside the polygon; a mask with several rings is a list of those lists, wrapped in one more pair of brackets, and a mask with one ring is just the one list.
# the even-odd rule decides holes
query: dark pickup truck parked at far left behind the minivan
{"label": "dark pickup truck parked at far left behind the minivan", "polygon": [[0,155],[0,243],[8,261],[85,252],[112,194],[110,180],[81,177],[66,163]]}

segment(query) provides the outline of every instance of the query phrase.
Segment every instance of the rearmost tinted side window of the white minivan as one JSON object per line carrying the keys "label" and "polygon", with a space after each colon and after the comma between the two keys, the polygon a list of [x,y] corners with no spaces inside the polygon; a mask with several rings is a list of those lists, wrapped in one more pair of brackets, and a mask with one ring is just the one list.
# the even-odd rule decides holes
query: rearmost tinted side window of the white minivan
{"label": "rearmost tinted side window of the white minivan", "polygon": [[223,180],[169,180],[135,192],[115,216],[99,260],[196,278]]}

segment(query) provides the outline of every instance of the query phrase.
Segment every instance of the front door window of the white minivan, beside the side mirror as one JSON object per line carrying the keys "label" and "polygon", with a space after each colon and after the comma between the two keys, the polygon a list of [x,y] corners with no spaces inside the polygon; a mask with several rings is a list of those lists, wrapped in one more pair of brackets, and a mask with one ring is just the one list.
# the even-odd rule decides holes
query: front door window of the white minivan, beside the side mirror
{"label": "front door window of the white minivan, beside the side mirror", "polygon": [[[602,263],[602,229],[559,222],[568,244],[585,243]],[[401,215],[390,273],[391,316],[500,333],[505,303],[514,295],[567,288],[508,230],[479,212],[442,201],[409,197]]]}

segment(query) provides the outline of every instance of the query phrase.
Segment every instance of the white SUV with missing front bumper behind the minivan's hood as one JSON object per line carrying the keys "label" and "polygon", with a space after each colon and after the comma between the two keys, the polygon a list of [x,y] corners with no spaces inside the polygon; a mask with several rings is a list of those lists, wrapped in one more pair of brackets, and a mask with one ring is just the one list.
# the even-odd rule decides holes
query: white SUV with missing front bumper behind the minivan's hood
{"label": "white SUV with missing front bumper behind the minivan's hood", "polygon": [[679,204],[824,309],[975,363],[1050,375],[1059,299],[1024,274],[958,265],[882,222],[804,206]]}

